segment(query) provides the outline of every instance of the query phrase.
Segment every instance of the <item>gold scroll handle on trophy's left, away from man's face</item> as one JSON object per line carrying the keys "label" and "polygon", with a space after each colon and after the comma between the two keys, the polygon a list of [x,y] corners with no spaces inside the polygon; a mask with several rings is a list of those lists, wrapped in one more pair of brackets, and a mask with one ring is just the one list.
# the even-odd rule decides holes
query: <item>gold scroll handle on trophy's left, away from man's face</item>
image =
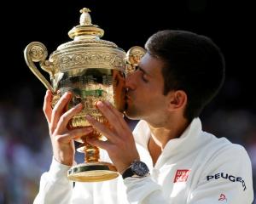
{"label": "gold scroll handle on trophy's left, away from man's face", "polygon": [[54,75],[52,65],[48,60],[45,60],[48,55],[47,48],[41,42],[31,42],[29,43],[24,50],[24,58],[26,60],[26,65],[33,72],[33,74],[38,77],[38,79],[44,84],[44,86],[55,93],[55,88],[53,88],[47,79],[38,71],[37,66],[34,62],[40,62],[40,65],[44,71],[49,72],[50,76]]}

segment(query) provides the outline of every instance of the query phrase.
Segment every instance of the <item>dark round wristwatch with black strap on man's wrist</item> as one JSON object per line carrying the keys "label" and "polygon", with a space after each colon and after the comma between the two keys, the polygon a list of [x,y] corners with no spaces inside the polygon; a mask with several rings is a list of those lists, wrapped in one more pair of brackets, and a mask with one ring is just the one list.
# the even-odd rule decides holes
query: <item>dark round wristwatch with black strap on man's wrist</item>
{"label": "dark round wristwatch with black strap on man's wrist", "polygon": [[143,161],[133,161],[131,166],[128,167],[122,174],[125,179],[127,177],[143,178],[149,175],[148,166]]}

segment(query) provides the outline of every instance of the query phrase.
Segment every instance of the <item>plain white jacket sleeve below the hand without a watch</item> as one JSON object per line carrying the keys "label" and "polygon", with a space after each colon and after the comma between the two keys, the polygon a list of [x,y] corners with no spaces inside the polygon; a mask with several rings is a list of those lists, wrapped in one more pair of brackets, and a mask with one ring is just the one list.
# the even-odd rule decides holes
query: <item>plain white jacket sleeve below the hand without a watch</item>
{"label": "plain white jacket sleeve below the hand without a watch", "polygon": [[43,173],[38,195],[34,204],[67,204],[71,203],[73,182],[67,179],[68,166],[62,165],[53,158],[49,172]]}

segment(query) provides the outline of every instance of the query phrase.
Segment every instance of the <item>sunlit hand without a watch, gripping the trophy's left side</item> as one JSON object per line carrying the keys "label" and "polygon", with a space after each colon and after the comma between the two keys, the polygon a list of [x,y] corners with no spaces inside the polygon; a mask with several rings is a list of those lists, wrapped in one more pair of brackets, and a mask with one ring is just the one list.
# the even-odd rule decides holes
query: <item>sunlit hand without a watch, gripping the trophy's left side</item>
{"label": "sunlit hand without a watch, gripping the trophy's left side", "polygon": [[71,93],[64,94],[53,110],[51,108],[52,94],[49,90],[44,97],[44,115],[49,125],[49,135],[55,160],[68,166],[72,166],[74,161],[73,139],[79,139],[92,132],[92,127],[67,129],[69,120],[82,110],[82,104],[79,104],[65,112],[71,97]]}

